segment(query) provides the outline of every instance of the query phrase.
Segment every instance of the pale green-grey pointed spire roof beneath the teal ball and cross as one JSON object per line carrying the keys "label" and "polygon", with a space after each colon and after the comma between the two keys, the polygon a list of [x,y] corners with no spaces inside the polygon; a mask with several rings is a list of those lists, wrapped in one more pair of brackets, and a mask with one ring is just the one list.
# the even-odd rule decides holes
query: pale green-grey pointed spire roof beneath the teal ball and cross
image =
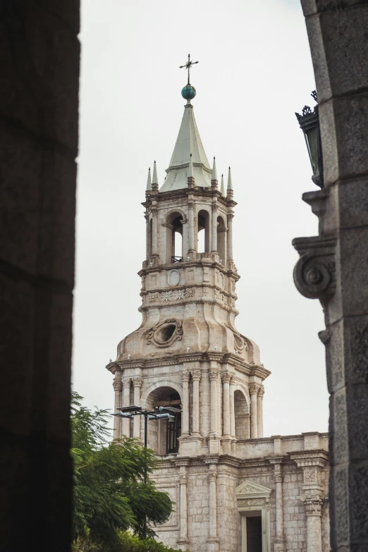
{"label": "pale green-grey pointed spire roof beneath the teal ball and cross", "polygon": [[167,178],[160,192],[188,187],[187,175],[190,154],[192,154],[192,176],[195,178],[195,185],[209,188],[211,186],[212,171],[195,122],[193,106],[188,100],[184,108],[184,115],[170,165],[166,169]]}

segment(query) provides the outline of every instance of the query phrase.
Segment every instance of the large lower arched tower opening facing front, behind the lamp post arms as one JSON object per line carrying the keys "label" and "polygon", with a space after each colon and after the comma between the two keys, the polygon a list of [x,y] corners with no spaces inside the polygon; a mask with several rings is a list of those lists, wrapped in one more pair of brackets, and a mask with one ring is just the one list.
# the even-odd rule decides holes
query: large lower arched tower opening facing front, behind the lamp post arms
{"label": "large lower arched tower opening facing front, behind the lamp post arms", "polygon": [[[154,410],[159,406],[173,406],[181,410],[181,398],[172,387],[159,387],[149,393],[147,409]],[[181,434],[181,413],[173,415],[173,421],[166,419],[149,420],[147,429],[148,447],[156,454],[176,454],[179,450],[178,438]]]}

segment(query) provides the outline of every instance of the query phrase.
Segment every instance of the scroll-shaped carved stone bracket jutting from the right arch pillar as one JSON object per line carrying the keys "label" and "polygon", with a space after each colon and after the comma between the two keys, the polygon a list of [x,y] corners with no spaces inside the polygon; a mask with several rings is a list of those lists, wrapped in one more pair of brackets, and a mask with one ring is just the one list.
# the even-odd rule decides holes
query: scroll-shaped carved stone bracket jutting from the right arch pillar
{"label": "scroll-shaped carved stone bracket jutting from the right arch pillar", "polygon": [[323,301],[335,293],[334,235],[295,238],[293,246],[300,254],[294,268],[294,283],[298,291],[309,299]]}

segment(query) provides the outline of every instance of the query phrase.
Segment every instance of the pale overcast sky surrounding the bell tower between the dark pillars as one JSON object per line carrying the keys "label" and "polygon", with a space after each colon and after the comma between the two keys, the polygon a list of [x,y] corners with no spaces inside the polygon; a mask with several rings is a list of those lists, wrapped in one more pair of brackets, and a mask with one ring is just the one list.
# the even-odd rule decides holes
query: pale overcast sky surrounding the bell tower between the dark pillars
{"label": "pale overcast sky surrounding the bell tower between the dark pillars", "polygon": [[295,118],[314,90],[298,0],[82,1],[80,155],[73,385],[87,405],[113,407],[121,339],[140,326],[147,169],[159,184],[185,101],[192,101],[208,159],[231,165],[237,327],[264,367],[264,435],[326,431],[328,395],[321,305],[295,289],[295,237],[316,235],[302,202],[316,190]]}

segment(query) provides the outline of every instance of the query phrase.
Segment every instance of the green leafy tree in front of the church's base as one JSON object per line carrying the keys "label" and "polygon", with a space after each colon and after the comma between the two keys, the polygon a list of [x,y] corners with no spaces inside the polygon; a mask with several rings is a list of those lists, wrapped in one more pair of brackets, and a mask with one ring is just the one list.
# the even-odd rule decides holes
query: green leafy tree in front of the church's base
{"label": "green leafy tree in front of the church's base", "polygon": [[124,531],[131,529],[139,538],[153,537],[149,525],[166,521],[173,503],[166,493],[155,489],[149,477],[144,482],[145,466],[149,474],[156,463],[152,451],[133,439],[109,442],[109,411],[97,407],[89,410],[81,401],[82,397],[73,392],[75,550],[87,550],[82,546],[99,550],[102,546],[104,552],[123,551]]}

